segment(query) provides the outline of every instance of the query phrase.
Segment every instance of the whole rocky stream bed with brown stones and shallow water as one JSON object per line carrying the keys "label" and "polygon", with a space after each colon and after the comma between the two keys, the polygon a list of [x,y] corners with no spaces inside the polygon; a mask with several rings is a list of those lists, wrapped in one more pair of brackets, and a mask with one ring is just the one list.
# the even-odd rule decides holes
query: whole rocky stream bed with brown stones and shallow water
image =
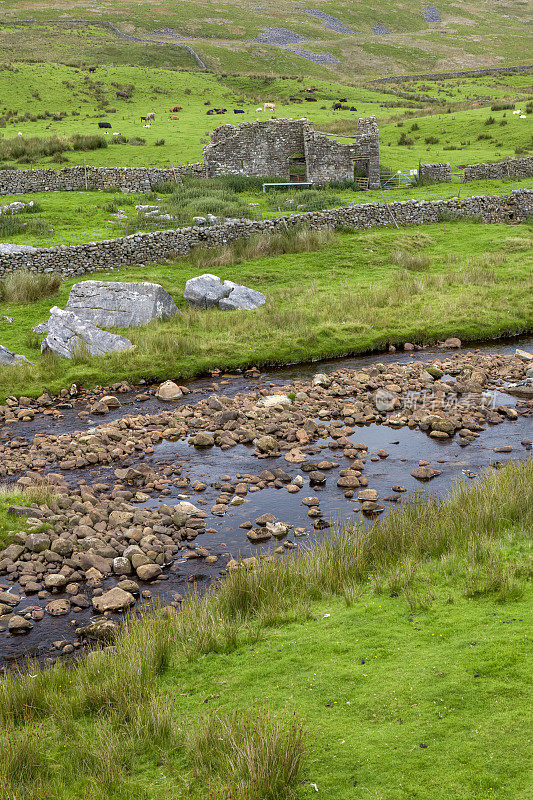
{"label": "whole rocky stream bed with brown stones and shallow water", "polygon": [[0,481],[55,494],[12,509],[0,670],[109,645],[129,608],[179,609],[266,552],[530,457],[533,338],[459,345],[8,398]]}

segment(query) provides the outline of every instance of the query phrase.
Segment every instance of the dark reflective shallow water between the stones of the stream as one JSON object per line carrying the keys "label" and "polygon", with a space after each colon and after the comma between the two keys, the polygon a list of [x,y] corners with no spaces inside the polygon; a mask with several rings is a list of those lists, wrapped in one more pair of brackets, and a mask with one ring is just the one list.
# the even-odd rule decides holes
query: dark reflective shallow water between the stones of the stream
{"label": "dark reflective shallow water between the stones of the stream", "polygon": [[[479,349],[493,354],[514,353],[520,347],[524,350],[533,350],[533,337],[522,340],[512,340],[508,342],[492,342],[480,346]],[[473,348],[471,348],[473,349]],[[316,362],[313,364],[285,367],[262,373],[261,378],[249,379],[242,376],[221,376],[215,380],[199,380],[189,384],[191,393],[183,398],[184,403],[194,403],[201,400],[213,392],[232,396],[237,392],[256,390],[259,385],[283,386],[295,379],[310,379],[317,372],[328,373],[342,368],[360,369],[375,363],[405,362],[411,357],[422,361],[432,361],[435,357],[442,358],[442,349],[427,349],[419,352],[379,354],[365,357],[353,357],[344,359],[332,359],[329,361]],[[161,410],[168,410],[168,404],[161,403],[155,398],[150,398],[145,402],[134,399],[138,392],[120,395],[121,407],[113,409],[105,417],[105,422],[117,419],[129,414],[157,413]],[[515,405],[516,401],[508,394],[499,390],[493,393],[494,404]],[[490,398],[489,398],[490,399]],[[102,423],[102,417],[87,417],[80,419],[77,416],[78,408],[65,409],[63,417],[53,420],[49,417],[36,417],[31,422],[10,425],[10,438],[24,436],[31,438],[35,433],[44,431],[53,434],[71,432],[74,430],[84,430],[93,425]],[[533,423],[530,416],[519,416],[515,422],[505,421],[494,427],[487,427],[482,431],[478,438],[466,447],[461,447],[458,441],[448,439],[436,441],[429,438],[422,431],[411,430],[407,427],[394,429],[389,426],[370,424],[358,426],[354,434],[349,438],[354,444],[362,443],[368,447],[368,458],[364,471],[364,476],[368,479],[368,487],[377,489],[381,498],[380,502],[385,506],[384,514],[394,513],[395,509],[401,506],[404,499],[410,494],[424,491],[439,496],[444,496],[449,492],[457,480],[475,480],[476,477],[491,464],[497,466],[508,459],[528,457],[531,451],[527,450],[521,440],[532,438]],[[264,488],[257,492],[249,492],[245,502],[241,505],[230,507],[229,511],[222,517],[210,513],[210,509],[219,494],[219,488],[212,484],[220,482],[221,476],[231,475],[232,478],[239,475],[256,475],[263,469],[274,469],[280,467],[292,476],[300,473],[298,464],[287,464],[283,457],[268,458],[261,461],[253,455],[254,448],[238,445],[230,450],[221,451],[219,448],[198,450],[190,446],[187,441],[167,441],[156,445],[154,453],[149,456],[141,457],[148,463],[157,463],[162,466],[166,463],[182,465],[182,475],[189,476],[191,483],[194,480],[201,480],[207,484],[207,489],[201,494],[193,491],[177,489],[171,487],[170,494],[158,498],[151,498],[141,507],[156,508],[159,504],[165,503],[172,505],[180,502],[184,495],[188,496],[196,506],[205,509],[209,513],[206,520],[206,531],[202,534],[197,543],[209,547],[214,555],[231,554],[232,556],[257,555],[260,552],[271,550],[273,546],[280,543],[273,540],[263,544],[254,545],[246,537],[246,531],[239,528],[243,522],[253,522],[258,516],[265,512],[272,512],[278,520],[286,522],[293,528],[305,528],[305,534],[296,538],[289,534],[289,539],[297,547],[294,551],[305,547],[316,536],[328,535],[328,530],[317,532],[312,526],[312,520],[308,516],[308,508],[302,505],[302,498],[308,495],[315,495],[320,500],[320,509],[324,520],[335,523],[341,521],[349,523],[353,519],[364,518],[360,512],[360,504],[356,500],[348,500],[344,496],[344,490],[337,487],[339,470],[346,468],[350,460],[347,459],[342,450],[332,449],[332,440],[324,439],[316,443],[315,451],[310,457],[311,460],[319,462],[328,460],[338,464],[338,466],[327,471],[327,480],[323,486],[306,487],[297,494],[290,494],[286,488]],[[511,446],[509,453],[495,453],[494,448],[502,445]],[[319,450],[320,448],[320,450]],[[372,461],[371,457],[377,450],[383,449],[389,454],[386,458],[379,458]],[[425,459],[432,466],[442,470],[442,474],[431,481],[429,485],[421,484],[411,476],[411,470],[418,466],[419,459]],[[135,466],[135,461],[133,466]],[[116,465],[115,465],[116,466]],[[102,482],[113,479],[115,466],[102,467],[95,470],[77,470],[68,473],[67,480],[77,484],[80,478],[84,478],[87,483]],[[468,477],[467,477],[468,473]],[[223,482],[223,481],[222,481]],[[395,493],[392,490],[394,485],[400,485],[406,489],[405,493]],[[531,489],[531,487],[529,487]],[[527,491],[527,487],[524,487]],[[179,493],[179,497],[178,497]],[[387,500],[387,498],[391,498]],[[281,556],[286,557],[286,556]],[[227,557],[226,557],[227,560]],[[203,591],[209,586],[212,580],[219,576],[221,568],[224,567],[226,560],[219,559],[218,563],[206,565],[203,559],[186,561],[178,559],[173,563],[169,571],[166,571],[156,583],[150,584],[152,594],[150,602],[154,599],[161,602],[168,602],[174,598],[176,593],[186,594],[191,587]],[[108,578],[104,582],[104,590],[112,588],[116,584],[115,578]],[[0,578],[0,586],[7,585],[7,582]],[[11,590],[17,594],[20,587],[15,584]],[[16,613],[23,614],[29,608],[43,608],[50,598],[41,600],[37,596],[23,597],[17,606]],[[90,609],[69,613],[61,617],[51,617],[48,614],[44,619],[35,624],[32,631],[23,636],[9,636],[6,633],[0,634],[0,667],[2,664],[8,665],[20,663],[26,656],[35,656],[40,660],[49,657],[54,653],[53,643],[56,641],[74,642],[75,628],[87,624],[91,619]],[[57,654],[57,651],[55,651]]]}

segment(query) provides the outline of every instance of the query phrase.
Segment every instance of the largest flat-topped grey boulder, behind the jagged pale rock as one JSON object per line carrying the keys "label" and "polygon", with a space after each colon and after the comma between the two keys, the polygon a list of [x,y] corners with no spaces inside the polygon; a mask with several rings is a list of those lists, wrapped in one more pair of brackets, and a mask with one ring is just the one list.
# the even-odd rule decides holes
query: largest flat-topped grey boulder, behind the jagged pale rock
{"label": "largest flat-topped grey boulder, behind the jagged pale rock", "polygon": [[103,328],[139,328],[178,314],[176,303],[157,283],[81,281],[70,290],[67,310]]}

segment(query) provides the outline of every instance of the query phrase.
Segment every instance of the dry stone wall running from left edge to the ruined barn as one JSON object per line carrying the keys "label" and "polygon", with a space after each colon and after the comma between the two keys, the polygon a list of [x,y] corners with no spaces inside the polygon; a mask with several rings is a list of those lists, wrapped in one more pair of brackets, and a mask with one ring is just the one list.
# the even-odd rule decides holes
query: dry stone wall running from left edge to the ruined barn
{"label": "dry stone wall running from left edge to the ruined barn", "polygon": [[157,167],[65,167],[64,169],[0,170],[0,195],[29,192],[79,192],[85,189],[150,191],[158,183],[175,181],[182,175],[205,177],[205,165],[179,164]]}

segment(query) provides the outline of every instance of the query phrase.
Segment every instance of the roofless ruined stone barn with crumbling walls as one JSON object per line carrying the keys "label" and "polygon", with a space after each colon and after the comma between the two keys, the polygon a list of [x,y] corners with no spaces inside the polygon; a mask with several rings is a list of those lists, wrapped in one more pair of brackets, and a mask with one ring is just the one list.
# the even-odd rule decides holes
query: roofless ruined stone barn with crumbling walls
{"label": "roofless ruined stone barn with crumbling walls", "polygon": [[353,180],[379,187],[379,130],[375,117],[357,122],[355,142],[341,144],[315,131],[309,119],[270,119],[220,125],[204,147],[208,178],[272,175],[284,181]]}

